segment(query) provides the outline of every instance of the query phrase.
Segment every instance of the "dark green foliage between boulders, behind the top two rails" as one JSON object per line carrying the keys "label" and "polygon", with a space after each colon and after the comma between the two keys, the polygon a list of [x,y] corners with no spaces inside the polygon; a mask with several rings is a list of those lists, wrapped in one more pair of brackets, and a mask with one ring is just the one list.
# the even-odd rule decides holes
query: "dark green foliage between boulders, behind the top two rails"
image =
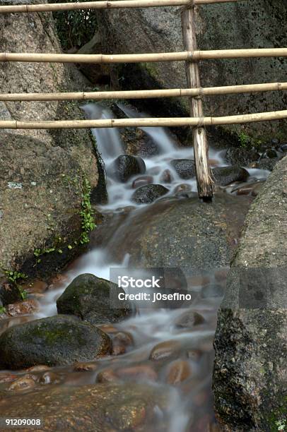
{"label": "dark green foliage between boulders, behind the top two rails", "polygon": [[83,46],[92,39],[95,30],[97,30],[95,11],[89,9],[86,11],[57,11],[53,13],[53,16],[59,40],[64,50]]}

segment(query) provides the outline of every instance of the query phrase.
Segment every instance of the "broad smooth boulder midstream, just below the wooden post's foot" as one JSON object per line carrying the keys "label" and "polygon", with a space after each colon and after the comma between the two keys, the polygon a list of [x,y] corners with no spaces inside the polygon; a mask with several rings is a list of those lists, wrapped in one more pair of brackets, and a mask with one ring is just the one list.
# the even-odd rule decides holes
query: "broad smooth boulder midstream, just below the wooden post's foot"
{"label": "broad smooth boulder midstream, just below the wooden post's foot", "polygon": [[[198,198],[162,200],[130,215],[113,240],[111,260],[129,253],[129,265],[193,270],[226,267],[240,236],[250,198],[218,194],[213,203]],[[106,239],[109,224],[99,229]],[[105,240],[106,241],[106,240]]]}

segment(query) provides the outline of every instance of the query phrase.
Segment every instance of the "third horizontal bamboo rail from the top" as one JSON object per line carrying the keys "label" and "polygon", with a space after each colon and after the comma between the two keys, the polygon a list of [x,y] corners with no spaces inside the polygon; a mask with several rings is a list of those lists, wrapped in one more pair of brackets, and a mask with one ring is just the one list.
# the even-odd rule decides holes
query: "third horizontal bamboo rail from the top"
{"label": "third horizontal bamboo rail from the top", "polygon": [[154,97],[198,97],[281,90],[287,90],[287,83],[226,85],[223,87],[207,88],[172,88],[167,90],[129,90],[115,92],[0,93],[0,101],[47,102],[49,100],[152,99]]}

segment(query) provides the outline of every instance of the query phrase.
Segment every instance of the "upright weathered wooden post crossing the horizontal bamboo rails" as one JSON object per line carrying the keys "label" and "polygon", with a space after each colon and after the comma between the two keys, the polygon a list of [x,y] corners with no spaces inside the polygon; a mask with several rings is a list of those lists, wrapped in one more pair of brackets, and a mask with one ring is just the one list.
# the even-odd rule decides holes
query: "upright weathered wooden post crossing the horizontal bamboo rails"
{"label": "upright weathered wooden post crossing the horizontal bamboo rails", "polygon": [[[185,8],[182,11],[182,39],[187,51],[194,52],[197,50],[194,7]],[[200,73],[197,61],[188,61],[185,65],[185,71],[187,85],[191,88],[200,88]],[[202,118],[204,116],[201,96],[190,97],[189,109],[191,117]],[[205,128],[202,126],[194,128],[192,140],[199,198],[210,200],[213,197],[213,180],[211,179],[211,169],[209,167],[209,144]]]}

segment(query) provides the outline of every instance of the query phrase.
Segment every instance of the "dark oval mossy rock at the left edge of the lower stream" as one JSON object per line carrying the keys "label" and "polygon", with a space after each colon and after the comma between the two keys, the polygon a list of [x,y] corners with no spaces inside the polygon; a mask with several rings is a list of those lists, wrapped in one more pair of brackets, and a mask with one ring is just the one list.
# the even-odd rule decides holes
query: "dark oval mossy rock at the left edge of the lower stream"
{"label": "dark oval mossy rock at the left edge of the lower stream", "polygon": [[0,365],[14,369],[59,366],[91,361],[110,350],[110,337],[90,323],[52,316],[6,330],[0,336]]}

